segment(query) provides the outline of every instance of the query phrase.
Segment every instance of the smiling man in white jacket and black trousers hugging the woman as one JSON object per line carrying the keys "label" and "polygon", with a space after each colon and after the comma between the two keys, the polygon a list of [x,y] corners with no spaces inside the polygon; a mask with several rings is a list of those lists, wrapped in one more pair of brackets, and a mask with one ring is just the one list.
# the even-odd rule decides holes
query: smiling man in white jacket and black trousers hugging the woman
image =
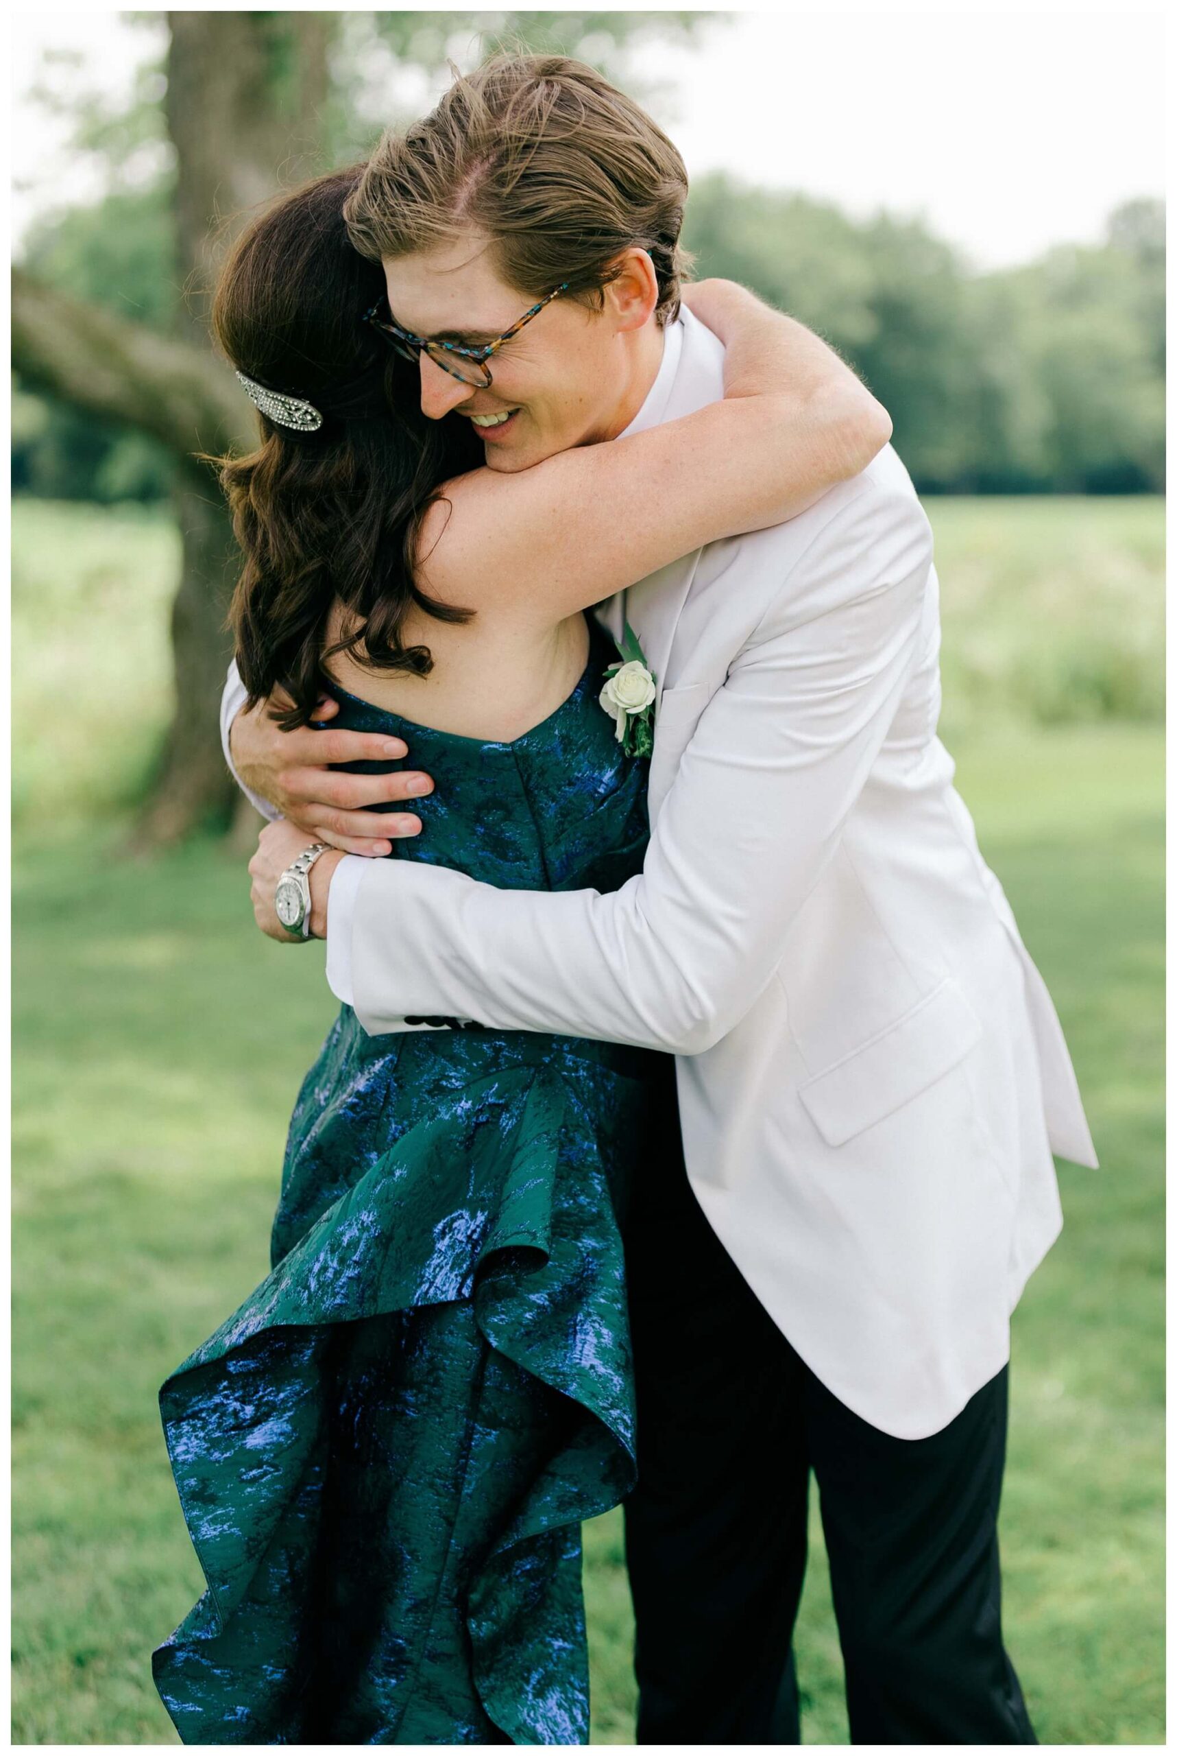
{"label": "smiling man in white jacket and black trousers hugging the woman", "polygon": [[[514,65],[542,91],[542,65]],[[488,272],[495,200],[502,237],[521,200],[470,207],[486,155],[463,158],[454,114],[484,128],[493,97],[460,83],[382,144],[349,205],[391,311],[433,355]],[[528,114],[544,139],[560,107]],[[519,109],[500,119],[517,128]],[[591,133],[565,139],[565,160],[577,151],[589,186]],[[472,248],[437,272],[446,200]],[[426,413],[477,395],[419,355]],[[574,367],[488,432],[493,469],[595,437],[561,427],[596,390]],[[682,311],[623,435],[721,395],[723,346]],[[1061,1226],[1052,1152],[1096,1159],[937,738],[928,520],[888,448],[800,516],[684,555],[598,615],[617,639],[628,625],[656,683],[638,878],[610,896],[500,892],[358,857],[428,834],[428,795],[400,820],[340,810],[361,794],[340,792],[317,734],[244,713],[230,669],[226,755],[282,817],[251,864],[258,915],[326,839],[353,852],[316,862],[312,927],[368,1033],[475,1022],[677,1057],[681,1141],[668,1129],[628,1238],[638,1742],[798,1740],[810,1470],[854,1742],[1033,1742],[1000,1626],[1009,1319]]]}

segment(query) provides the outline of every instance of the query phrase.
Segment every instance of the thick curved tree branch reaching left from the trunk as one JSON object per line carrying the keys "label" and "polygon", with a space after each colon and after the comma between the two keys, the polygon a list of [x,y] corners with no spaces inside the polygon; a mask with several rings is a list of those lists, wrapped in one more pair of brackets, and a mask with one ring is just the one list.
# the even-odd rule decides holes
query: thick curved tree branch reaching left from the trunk
{"label": "thick curved tree branch reaching left from the trunk", "polygon": [[12,270],[12,363],[91,414],[128,421],[181,458],[256,444],[249,402],[207,348],[160,335]]}

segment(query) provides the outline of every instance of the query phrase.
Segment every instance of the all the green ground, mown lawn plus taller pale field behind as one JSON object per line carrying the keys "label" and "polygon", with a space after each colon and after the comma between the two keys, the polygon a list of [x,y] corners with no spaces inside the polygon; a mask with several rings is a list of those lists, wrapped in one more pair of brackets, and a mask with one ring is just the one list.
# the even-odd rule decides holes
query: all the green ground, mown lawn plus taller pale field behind
{"label": "all the green ground, mown lawn plus taller pale field behind", "polygon": [[[1063,1166],[1066,1229],[1014,1326],[1007,1640],[1044,1744],[1159,1744],[1161,507],[930,511],[959,785],[1054,992],[1102,1154],[1096,1173]],[[18,502],[14,550],[12,1737],[174,1742],[149,1651],[200,1575],[156,1389],[265,1273],[286,1119],[332,1003],[319,950],[254,932],[242,859],[210,843],[118,855],[167,713],[170,529]],[[1088,627],[1084,674],[1103,681],[1063,713],[1049,680],[1079,676]],[[805,1742],[837,1744],[814,1535]],[[586,1551],[593,1735],[623,1744],[616,1514]]]}

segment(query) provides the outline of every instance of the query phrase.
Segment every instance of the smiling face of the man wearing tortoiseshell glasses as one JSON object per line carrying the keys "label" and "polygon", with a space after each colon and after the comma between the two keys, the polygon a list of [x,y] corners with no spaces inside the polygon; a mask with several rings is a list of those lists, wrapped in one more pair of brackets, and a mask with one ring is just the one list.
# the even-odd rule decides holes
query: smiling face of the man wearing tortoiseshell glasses
{"label": "smiling face of the man wearing tortoiseshell glasses", "polygon": [[[495,341],[551,291],[528,295],[510,286],[479,235],[386,258],[384,277],[400,328],[470,348]],[[603,311],[553,299],[486,362],[489,388],[463,383],[423,353],[421,409],[432,420],[449,413],[472,420],[486,464],[496,471],[530,469],[556,451],[612,439],[633,420],[658,372],[656,304],[649,256],[626,251],[623,274],[603,290]]]}

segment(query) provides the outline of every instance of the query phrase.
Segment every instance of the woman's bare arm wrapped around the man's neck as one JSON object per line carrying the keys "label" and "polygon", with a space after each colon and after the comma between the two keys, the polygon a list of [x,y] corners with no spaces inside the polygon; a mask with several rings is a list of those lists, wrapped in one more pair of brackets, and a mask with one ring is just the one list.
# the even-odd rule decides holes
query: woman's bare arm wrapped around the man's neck
{"label": "woman's bare arm wrapped around the man's neck", "polygon": [[421,536],[426,592],[558,622],[705,543],[795,518],[888,443],[886,409],[812,330],[733,281],[688,302],[724,344],[723,400],[451,483]]}

